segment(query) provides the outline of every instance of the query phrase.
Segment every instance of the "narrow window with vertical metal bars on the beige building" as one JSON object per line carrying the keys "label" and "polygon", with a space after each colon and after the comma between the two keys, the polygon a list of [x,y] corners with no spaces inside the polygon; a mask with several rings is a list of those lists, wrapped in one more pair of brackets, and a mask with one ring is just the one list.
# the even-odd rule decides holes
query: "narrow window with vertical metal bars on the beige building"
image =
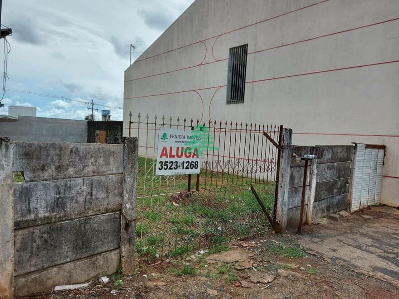
{"label": "narrow window with vertical metal bars on the beige building", "polygon": [[226,104],[244,102],[248,44],[230,48]]}

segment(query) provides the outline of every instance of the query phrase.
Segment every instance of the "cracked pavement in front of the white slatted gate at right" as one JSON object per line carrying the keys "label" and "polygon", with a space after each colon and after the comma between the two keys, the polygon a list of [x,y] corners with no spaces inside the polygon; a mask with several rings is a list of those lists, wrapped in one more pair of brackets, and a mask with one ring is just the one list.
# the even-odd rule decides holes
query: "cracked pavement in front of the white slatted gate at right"
{"label": "cracked pavement in front of the white slatted gate at right", "polygon": [[308,227],[298,242],[399,289],[399,210],[371,207]]}

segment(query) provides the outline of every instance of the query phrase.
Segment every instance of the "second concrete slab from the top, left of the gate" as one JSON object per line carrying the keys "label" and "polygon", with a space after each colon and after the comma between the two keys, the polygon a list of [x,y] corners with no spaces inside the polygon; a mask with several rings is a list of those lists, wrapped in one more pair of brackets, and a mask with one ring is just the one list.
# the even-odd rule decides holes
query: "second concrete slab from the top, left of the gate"
{"label": "second concrete slab from the top, left of the gate", "polygon": [[122,175],[14,185],[14,228],[120,210]]}

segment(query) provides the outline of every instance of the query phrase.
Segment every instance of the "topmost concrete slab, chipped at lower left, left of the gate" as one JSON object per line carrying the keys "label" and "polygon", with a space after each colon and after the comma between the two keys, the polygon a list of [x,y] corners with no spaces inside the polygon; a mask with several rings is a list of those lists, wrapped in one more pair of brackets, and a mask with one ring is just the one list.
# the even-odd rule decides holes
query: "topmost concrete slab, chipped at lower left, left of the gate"
{"label": "topmost concrete slab, chipped at lower left, left of the gate", "polygon": [[26,181],[122,173],[123,146],[15,142],[14,170]]}

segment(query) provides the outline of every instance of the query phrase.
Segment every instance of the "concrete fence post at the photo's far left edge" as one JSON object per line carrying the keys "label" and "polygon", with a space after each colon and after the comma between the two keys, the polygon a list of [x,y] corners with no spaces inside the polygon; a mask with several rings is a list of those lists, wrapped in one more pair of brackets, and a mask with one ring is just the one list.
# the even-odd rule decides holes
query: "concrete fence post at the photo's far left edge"
{"label": "concrete fence post at the photo's far left edge", "polygon": [[14,148],[8,138],[0,137],[0,298],[14,297]]}

